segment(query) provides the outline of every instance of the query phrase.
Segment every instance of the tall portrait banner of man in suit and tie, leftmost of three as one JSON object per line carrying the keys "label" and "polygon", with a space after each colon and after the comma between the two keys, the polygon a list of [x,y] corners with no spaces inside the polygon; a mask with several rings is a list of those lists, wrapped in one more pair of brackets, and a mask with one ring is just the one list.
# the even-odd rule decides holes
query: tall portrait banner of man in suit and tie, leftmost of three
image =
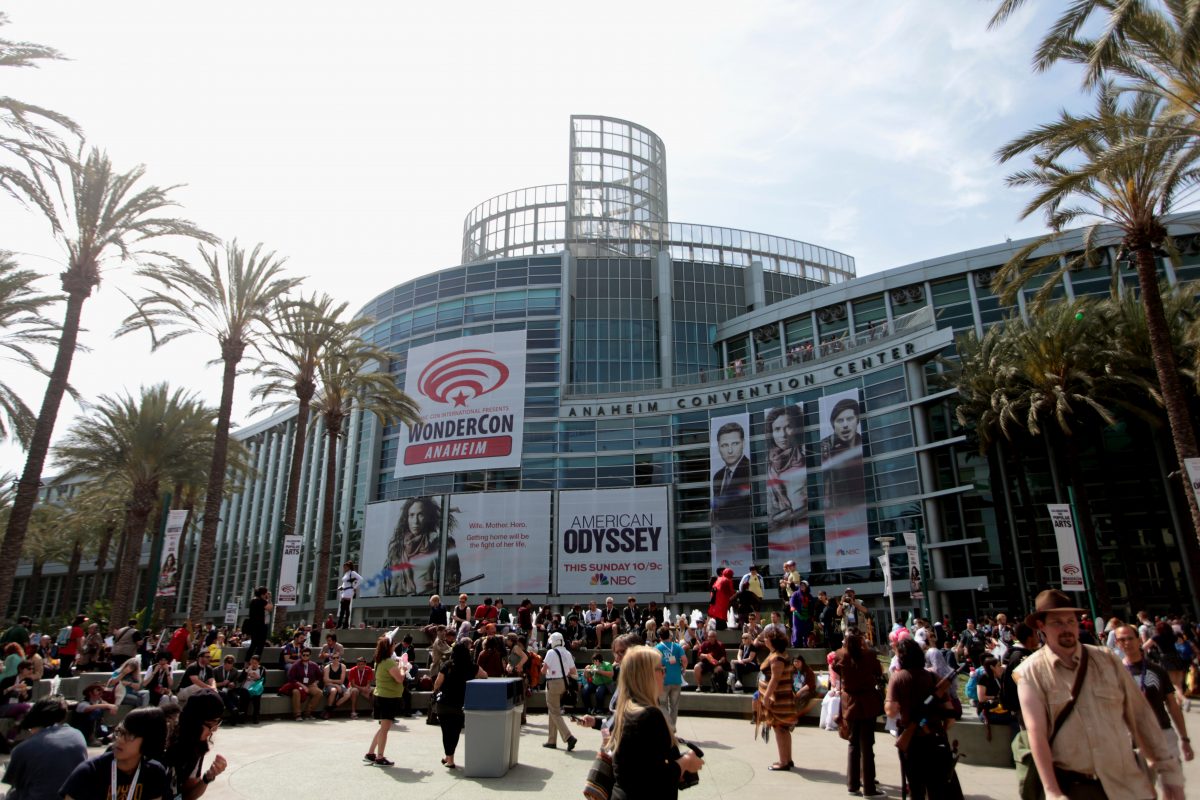
{"label": "tall portrait banner of man in suit and tie, leftmost of three", "polygon": [[754,557],[754,503],[750,494],[750,415],[733,414],[709,421],[708,465],[713,477],[709,519],[713,528],[713,569],[743,575]]}

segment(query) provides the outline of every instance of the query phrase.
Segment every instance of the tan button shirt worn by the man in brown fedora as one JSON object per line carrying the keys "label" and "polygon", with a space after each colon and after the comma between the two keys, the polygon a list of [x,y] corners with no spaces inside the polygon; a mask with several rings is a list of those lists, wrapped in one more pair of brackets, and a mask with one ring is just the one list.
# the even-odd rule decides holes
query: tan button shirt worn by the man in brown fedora
{"label": "tan button shirt worn by the man in brown fedora", "polygon": [[[1055,766],[1094,775],[1110,798],[1154,798],[1154,787],[1134,759],[1133,736],[1142,756],[1162,774],[1163,782],[1182,786],[1182,765],[1168,750],[1154,711],[1124,664],[1108,648],[1081,646],[1087,648],[1087,675],[1075,710],[1054,740]],[[1021,662],[1014,680],[1019,686],[1033,688],[1039,700],[1022,703],[1021,714],[1026,720],[1042,715],[1043,728],[1048,735],[1052,733],[1058,711],[1070,699],[1075,669],[1043,646]]]}

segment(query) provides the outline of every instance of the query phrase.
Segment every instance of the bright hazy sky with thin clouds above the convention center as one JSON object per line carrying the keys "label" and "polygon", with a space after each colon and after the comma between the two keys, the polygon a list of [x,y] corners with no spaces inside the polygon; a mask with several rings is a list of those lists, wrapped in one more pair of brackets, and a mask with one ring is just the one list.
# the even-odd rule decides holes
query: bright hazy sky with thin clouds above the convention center
{"label": "bright hazy sky with thin clouds above the convention center", "polygon": [[[482,200],[566,182],[571,114],[662,138],[672,221],[822,245],[868,275],[1042,233],[994,154],[1088,102],[1070,70],[1030,68],[1042,4],[994,31],[988,0],[338,5],[7,0],[0,36],[68,60],[5,68],[0,94],[68,114],[120,170],[185,185],[180,216],[262,242],[353,311],[458,264]],[[56,288],[61,247],[7,198],[0,248]],[[71,373],[84,399],[167,380],[216,404],[216,343],[114,341],[145,285],[116,260],[103,279]],[[44,379],[2,371],[36,410]],[[236,425],[260,419],[254,383],[239,379]],[[79,413],[64,403],[55,439]],[[0,444],[0,474],[23,463]]]}

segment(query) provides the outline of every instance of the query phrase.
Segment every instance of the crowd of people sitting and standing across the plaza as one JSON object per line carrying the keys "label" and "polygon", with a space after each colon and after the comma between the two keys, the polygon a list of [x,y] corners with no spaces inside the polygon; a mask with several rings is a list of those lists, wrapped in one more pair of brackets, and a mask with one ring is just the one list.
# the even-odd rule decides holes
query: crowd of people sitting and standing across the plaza
{"label": "crowd of people sitting and standing across the plaza", "polygon": [[[1153,796],[1141,794],[1147,787],[1153,792],[1146,772],[1139,778],[1124,769],[1132,757],[1124,758],[1123,750],[1097,740],[1085,752],[1079,744],[1115,714],[1103,730],[1111,734],[1124,724],[1129,752],[1136,747],[1163,795],[1182,796],[1180,763],[1194,756],[1183,709],[1198,687],[1200,652],[1196,627],[1186,618],[1141,613],[1128,622],[1097,622],[1062,593],[1048,591],[1034,613],[1015,622],[996,614],[956,628],[948,616],[913,618],[877,637],[871,612],[852,588],[835,599],[814,595],[791,561],[778,581],[778,603],[766,597],[766,584],[756,569],[740,581],[722,570],[712,582],[707,613],[688,614],[640,603],[636,596],[563,609],[523,600],[509,610],[498,597],[472,603],[462,594],[446,606],[433,595],[422,631],[427,640],[420,643],[427,664],[413,636],[394,631],[378,639],[372,658],[359,656],[352,666],[337,624],[302,625],[281,637],[278,662],[271,666],[286,674],[274,691],[289,697],[295,721],[337,712],[356,718],[360,706],[368,708],[377,728],[364,759],[379,766],[392,764],[389,732],[413,714],[413,692],[430,691],[428,722],[442,727],[442,764],[456,769],[467,681],[517,678],[527,694],[545,691],[547,748],[562,739],[574,750],[572,724],[601,730],[616,776],[612,796],[632,796],[628,786],[622,788],[631,775],[643,777],[634,794],[647,780],[670,794],[703,765],[674,733],[684,691],[752,694],[757,735],[775,739],[778,758],[768,765],[775,771],[805,769],[803,758],[797,765],[792,732],[814,704],[832,708],[828,727],[847,741],[846,788],[864,796],[882,794],[875,768],[881,715],[895,736],[911,796],[961,796],[947,730],[965,712],[988,726],[989,736],[1010,742],[1022,784],[1032,781],[1048,796],[1086,796],[1080,793],[1087,787],[1129,792],[1109,790],[1108,796]],[[269,593],[260,593],[269,602]],[[738,645],[722,642],[728,628],[738,630]],[[102,622],[79,616],[52,637],[34,631],[28,618],[18,620],[0,636],[0,717],[16,720],[19,736],[28,736],[14,754],[53,750],[64,763],[74,759],[60,776],[78,782],[112,769],[107,762],[86,762],[85,769],[78,745],[110,745],[119,778],[149,781],[146,796],[155,796],[163,780],[150,762],[162,765],[166,786],[186,783],[176,796],[197,796],[224,769],[220,757],[202,769],[205,742],[222,721],[259,722],[268,638],[265,631],[250,633],[248,655],[239,663],[227,652],[246,638],[236,627],[185,622],[151,634],[136,620],[106,631]],[[794,650],[805,646],[823,646],[826,663],[817,667],[827,675],[817,675]],[[42,678],[101,669],[110,670],[108,680],[83,687],[73,708],[61,698],[50,705],[32,702]],[[1094,693],[1088,691],[1093,684]],[[1075,700],[1064,705],[1063,698]],[[133,710],[108,727],[121,705]],[[162,736],[160,716],[168,732]],[[1072,744],[1055,735],[1063,729],[1072,730]],[[22,766],[28,763],[14,759],[5,780],[35,780]],[[142,764],[148,766],[139,772]]]}

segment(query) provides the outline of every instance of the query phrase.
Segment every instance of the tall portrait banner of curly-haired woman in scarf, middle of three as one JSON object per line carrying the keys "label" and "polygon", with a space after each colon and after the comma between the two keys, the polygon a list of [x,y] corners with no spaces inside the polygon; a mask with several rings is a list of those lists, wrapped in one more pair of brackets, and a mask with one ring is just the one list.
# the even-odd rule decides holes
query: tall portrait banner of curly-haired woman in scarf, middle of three
{"label": "tall portrait banner of curly-haired woman in scarf, middle of three", "polygon": [[804,452],[804,407],[780,405],[763,413],[767,440],[767,548],[770,563],[796,561],[812,571],[809,539],[809,468]]}

